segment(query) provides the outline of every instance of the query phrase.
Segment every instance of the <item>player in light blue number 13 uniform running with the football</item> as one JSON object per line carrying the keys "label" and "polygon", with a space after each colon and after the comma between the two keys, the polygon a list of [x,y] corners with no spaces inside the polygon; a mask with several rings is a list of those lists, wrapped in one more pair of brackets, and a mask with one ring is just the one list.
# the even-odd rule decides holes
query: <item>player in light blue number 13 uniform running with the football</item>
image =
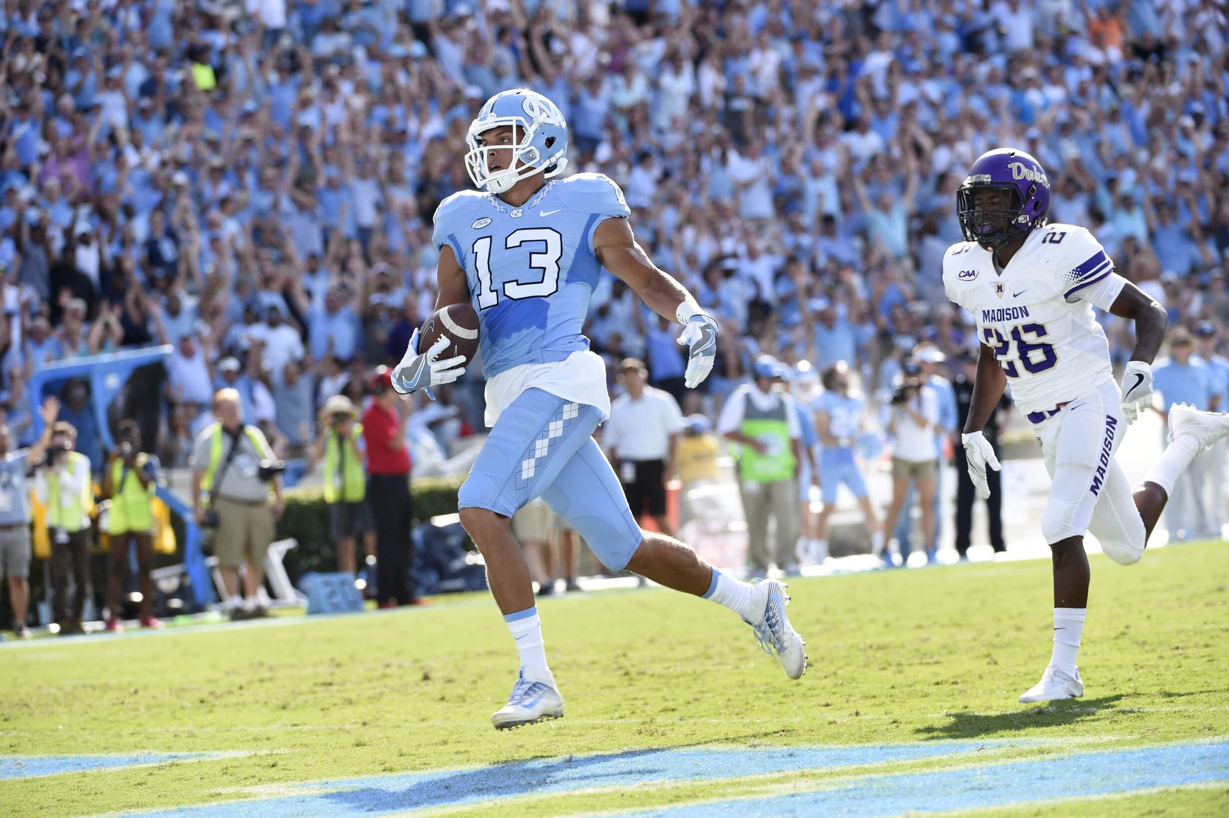
{"label": "player in light blue number 13 uniform running with the football", "polygon": [[[466,168],[479,190],[435,211],[438,308],[478,313],[490,434],[458,493],[461,522],[487,563],[492,593],[516,641],[521,669],[497,728],[557,719],[563,696],[547,666],[533,588],[509,518],[543,497],[608,567],[713,599],[755,628],[791,679],[806,671],[804,642],[785,615],[785,586],[742,582],[682,543],[642,532],[594,430],[610,416],[606,367],[581,334],[605,267],[659,314],[683,325],[686,384],[713,368],[717,322],[635,242],[623,193],[600,173],[562,178],[568,128],[549,99],[522,88],[495,95],[469,125]],[[484,190],[482,190],[484,189]],[[455,381],[463,359],[440,359],[446,337],[393,371],[398,392]]]}

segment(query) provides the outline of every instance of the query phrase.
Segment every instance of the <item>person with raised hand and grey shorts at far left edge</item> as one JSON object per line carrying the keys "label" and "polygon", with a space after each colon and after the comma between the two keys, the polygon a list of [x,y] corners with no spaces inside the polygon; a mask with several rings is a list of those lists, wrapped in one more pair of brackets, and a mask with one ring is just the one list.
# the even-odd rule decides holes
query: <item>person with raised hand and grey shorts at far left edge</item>
{"label": "person with raised hand and grey shorts at far left edge", "polygon": [[9,577],[9,601],[12,603],[12,633],[17,639],[29,639],[26,610],[29,603],[29,491],[26,473],[29,464],[43,459],[52,442],[52,426],[60,411],[60,402],[43,402],[43,436],[27,450],[12,448],[12,432],[0,424],[0,576]]}

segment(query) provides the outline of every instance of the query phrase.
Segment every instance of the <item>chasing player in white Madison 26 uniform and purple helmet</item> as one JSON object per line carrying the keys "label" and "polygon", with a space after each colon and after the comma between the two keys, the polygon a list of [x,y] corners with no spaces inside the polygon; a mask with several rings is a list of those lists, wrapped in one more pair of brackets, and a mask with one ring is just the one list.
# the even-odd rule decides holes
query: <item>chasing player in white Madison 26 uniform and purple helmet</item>
{"label": "chasing player in white Madison 26 uniform and purple helmet", "polygon": [[[1165,334],[1165,311],[1113,271],[1089,231],[1047,224],[1050,179],[1037,160],[1010,149],[983,154],[957,192],[966,241],[943,260],[948,297],[973,313],[981,340],[964,430],[970,478],[988,497],[986,467],[999,463],[982,427],[1010,383],[1052,480],[1041,532],[1053,554],[1053,653],[1023,703],[1084,693],[1075,664],[1088,607],[1084,533],[1113,561],[1138,561],[1174,480],[1229,435],[1229,415],[1175,407],[1170,443],[1132,495],[1113,453],[1141,407],[1152,403],[1152,361]],[[1093,307],[1134,321],[1136,348],[1121,389]]]}

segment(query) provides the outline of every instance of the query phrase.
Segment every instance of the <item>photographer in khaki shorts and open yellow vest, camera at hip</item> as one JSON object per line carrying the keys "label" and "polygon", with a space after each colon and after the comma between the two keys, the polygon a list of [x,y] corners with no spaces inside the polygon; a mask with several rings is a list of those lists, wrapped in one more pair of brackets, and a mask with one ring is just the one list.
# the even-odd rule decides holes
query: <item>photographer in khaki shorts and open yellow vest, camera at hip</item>
{"label": "photographer in khaki shorts and open yellow vest, camera at hip", "polygon": [[[264,554],[284,510],[281,470],[264,434],[243,423],[240,394],[214,394],[216,423],[197,436],[192,450],[192,507],[197,523],[213,531],[214,554],[226,586],[231,619],[268,615],[258,603],[264,582]],[[270,489],[273,505],[269,505]],[[238,569],[245,596],[238,596]]]}

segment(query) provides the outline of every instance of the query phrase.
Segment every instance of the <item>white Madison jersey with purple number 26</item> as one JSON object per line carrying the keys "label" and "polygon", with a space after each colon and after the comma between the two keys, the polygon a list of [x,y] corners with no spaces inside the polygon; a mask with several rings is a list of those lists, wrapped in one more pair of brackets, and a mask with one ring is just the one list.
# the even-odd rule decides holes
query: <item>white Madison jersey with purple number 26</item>
{"label": "white Madison jersey with purple number 26", "polygon": [[943,258],[948,297],[977,319],[1021,411],[1053,409],[1113,380],[1110,345],[1093,307],[1109,310],[1126,285],[1093,235],[1075,225],[1029,233],[1005,269],[973,242]]}

